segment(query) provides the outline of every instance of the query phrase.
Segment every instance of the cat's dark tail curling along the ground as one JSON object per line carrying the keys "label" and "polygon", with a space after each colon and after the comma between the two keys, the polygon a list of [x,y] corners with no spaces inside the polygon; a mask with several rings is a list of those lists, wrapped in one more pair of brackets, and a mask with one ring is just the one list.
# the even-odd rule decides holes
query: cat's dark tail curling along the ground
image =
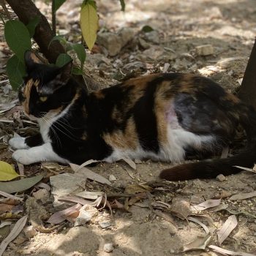
{"label": "cat's dark tail curling along the ground", "polygon": [[226,159],[208,159],[177,165],[162,170],[159,177],[168,181],[184,181],[193,178],[216,178],[219,174],[225,176],[239,173],[241,167],[252,167],[256,163],[256,112],[252,108],[238,104],[236,111],[242,127],[246,131],[247,145],[241,153]]}

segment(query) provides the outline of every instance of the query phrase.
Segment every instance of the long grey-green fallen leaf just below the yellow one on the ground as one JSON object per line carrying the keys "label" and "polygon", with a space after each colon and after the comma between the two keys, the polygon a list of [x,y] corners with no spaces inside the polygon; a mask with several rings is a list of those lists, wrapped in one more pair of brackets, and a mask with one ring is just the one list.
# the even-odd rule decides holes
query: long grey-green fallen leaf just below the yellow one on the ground
{"label": "long grey-green fallen leaf just below the yellow one on the ground", "polygon": [[0,182],[0,191],[14,193],[30,189],[44,177],[43,174],[31,178],[23,178],[19,181]]}

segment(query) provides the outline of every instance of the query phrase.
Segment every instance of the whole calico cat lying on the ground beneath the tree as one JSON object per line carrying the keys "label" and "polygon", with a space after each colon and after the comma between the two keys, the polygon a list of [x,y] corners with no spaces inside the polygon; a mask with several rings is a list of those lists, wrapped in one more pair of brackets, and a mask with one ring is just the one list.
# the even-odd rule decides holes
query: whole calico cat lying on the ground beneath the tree
{"label": "whole calico cat lying on the ground beneath the tree", "polygon": [[171,181],[238,173],[256,162],[256,113],[214,81],[192,74],[154,74],[125,80],[91,94],[64,67],[40,63],[25,53],[27,77],[19,90],[24,112],[40,133],[12,138],[13,158],[24,165],[56,161],[82,164],[124,157],[181,162],[219,154],[238,124],[248,137],[240,154],[163,170]]}

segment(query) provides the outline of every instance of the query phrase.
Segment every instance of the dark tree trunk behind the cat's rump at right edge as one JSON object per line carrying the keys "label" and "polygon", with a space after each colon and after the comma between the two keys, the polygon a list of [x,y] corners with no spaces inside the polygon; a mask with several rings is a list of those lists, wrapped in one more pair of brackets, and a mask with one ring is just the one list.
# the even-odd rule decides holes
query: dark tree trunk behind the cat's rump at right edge
{"label": "dark tree trunk behind the cat's rump at right edge", "polygon": [[244,79],[238,97],[256,110],[256,39],[244,72]]}

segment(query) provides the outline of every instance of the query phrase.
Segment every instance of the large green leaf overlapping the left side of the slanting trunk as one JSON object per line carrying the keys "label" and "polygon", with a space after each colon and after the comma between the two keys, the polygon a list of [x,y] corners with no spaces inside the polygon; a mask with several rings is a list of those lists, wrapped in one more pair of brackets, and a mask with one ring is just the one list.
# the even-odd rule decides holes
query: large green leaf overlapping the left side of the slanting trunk
{"label": "large green leaf overlapping the left side of the slanting trunk", "polygon": [[29,30],[19,20],[8,20],[4,26],[4,37],[10,49],[24,61],[24,53],[31,49]]}

